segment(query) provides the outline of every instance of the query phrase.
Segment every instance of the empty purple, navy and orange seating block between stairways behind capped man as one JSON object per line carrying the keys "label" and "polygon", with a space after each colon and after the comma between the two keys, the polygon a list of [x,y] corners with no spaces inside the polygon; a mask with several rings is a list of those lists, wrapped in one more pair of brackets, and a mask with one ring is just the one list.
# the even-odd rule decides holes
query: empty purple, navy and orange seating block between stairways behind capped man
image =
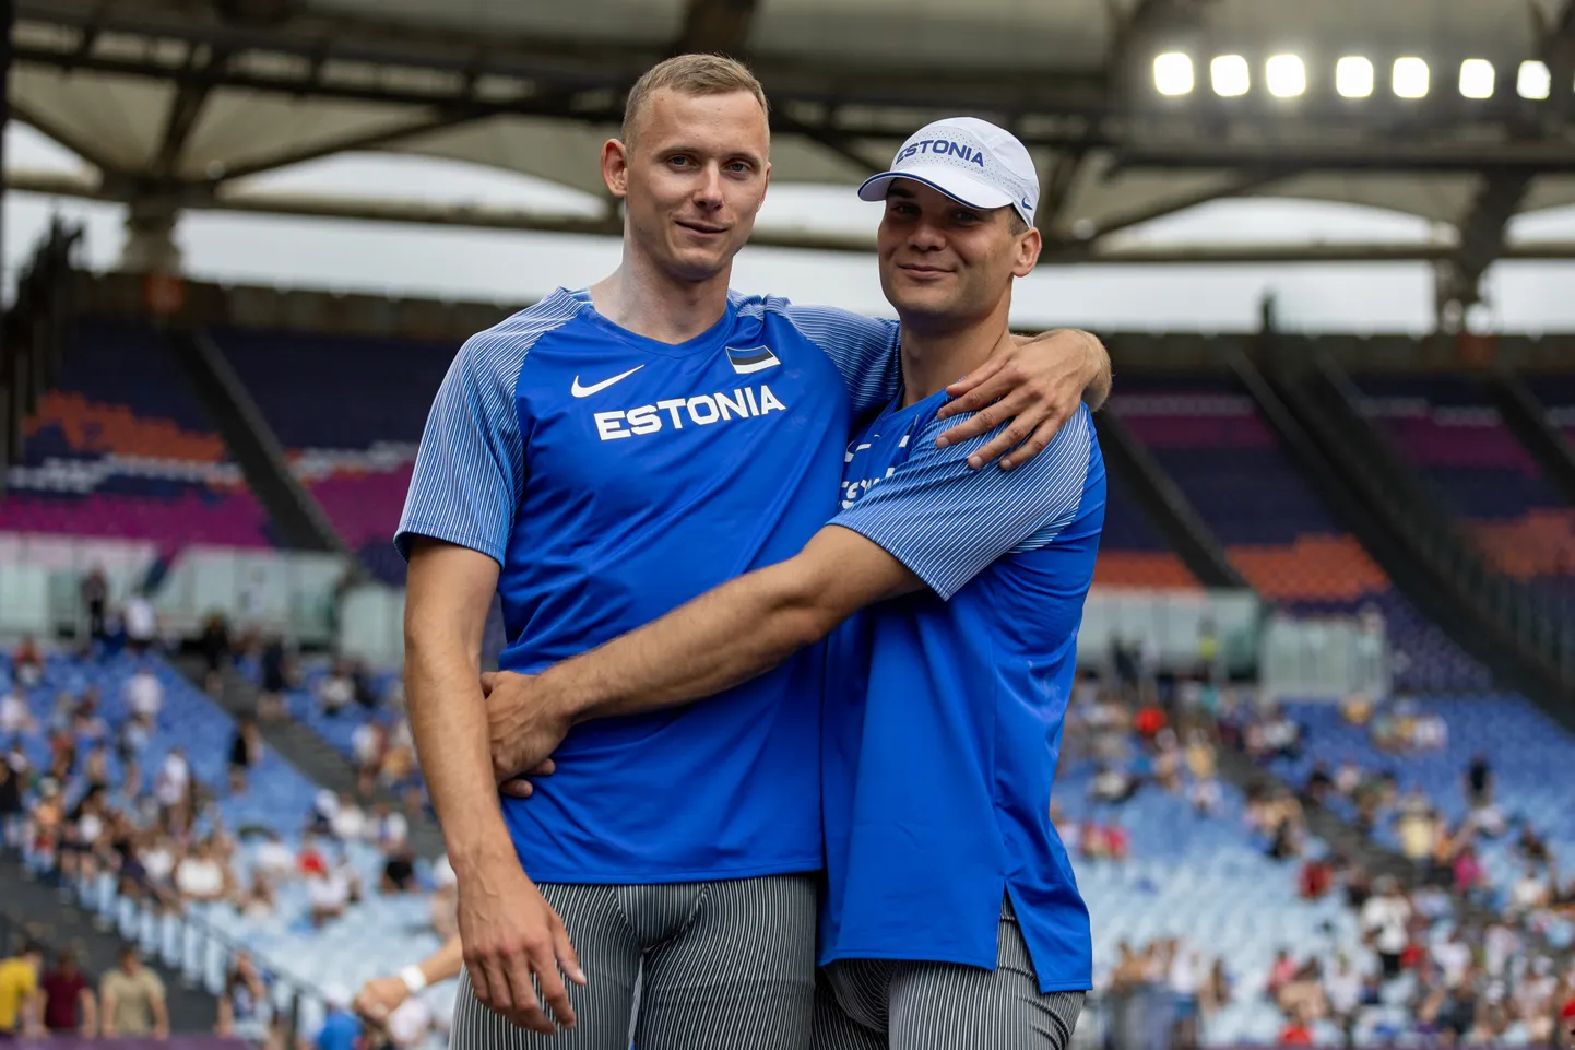
{"label": "empty purple, navy and orange seating block between stairways behind capped man", "polygon": [[1389,585],[1230,380],[1123,383],[1110,399],[1263,598],[1306,613],[1377,604],[1402,689],[1485,689],[1487,672]]}

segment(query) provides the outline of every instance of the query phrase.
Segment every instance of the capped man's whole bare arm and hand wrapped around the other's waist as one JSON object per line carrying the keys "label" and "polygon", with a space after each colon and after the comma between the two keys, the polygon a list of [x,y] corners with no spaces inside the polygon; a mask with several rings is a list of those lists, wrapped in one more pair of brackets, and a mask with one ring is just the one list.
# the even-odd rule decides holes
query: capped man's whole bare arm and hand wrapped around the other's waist
{"label": "capped man's whole bare arm and hand wrapped around the other's waist", "polygon": [[[827,525],[788,561],[729,580],[540,675],[488,675],[493,771],[507,780],[529,769],[575,722],[677,706],[748,681],[858,609],[921,586],[877,544]],[[523,780],[506,791],[528,793]]]}

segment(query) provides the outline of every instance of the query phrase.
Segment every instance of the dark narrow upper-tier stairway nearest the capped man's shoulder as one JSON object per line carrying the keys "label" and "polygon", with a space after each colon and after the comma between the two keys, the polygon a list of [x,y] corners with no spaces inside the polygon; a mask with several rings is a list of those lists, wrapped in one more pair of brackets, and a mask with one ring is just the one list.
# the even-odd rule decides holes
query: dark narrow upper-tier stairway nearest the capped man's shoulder
{"label": "dark narrow upper-tier stairway nearest the capped man's shoulder", "polygon": [[1093,423],[1115,484],[1137,501],[1197,582],[1203,586],[1246,588],[1247,582],[1225,558],[1219,539],[1121,418],[1106,408],[1095,413]]}

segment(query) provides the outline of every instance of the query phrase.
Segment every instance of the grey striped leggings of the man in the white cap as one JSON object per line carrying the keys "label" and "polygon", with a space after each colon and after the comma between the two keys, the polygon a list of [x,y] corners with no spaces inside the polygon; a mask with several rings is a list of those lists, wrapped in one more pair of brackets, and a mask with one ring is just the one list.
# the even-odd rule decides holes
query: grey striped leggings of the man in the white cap
{"label": "grey striped leggings of the man in the white cap", "polygon": [[1011,903],[995,970],[844,959],[814,989],[814,1050],[1066,1050],[1082,992],[1040,992]]}

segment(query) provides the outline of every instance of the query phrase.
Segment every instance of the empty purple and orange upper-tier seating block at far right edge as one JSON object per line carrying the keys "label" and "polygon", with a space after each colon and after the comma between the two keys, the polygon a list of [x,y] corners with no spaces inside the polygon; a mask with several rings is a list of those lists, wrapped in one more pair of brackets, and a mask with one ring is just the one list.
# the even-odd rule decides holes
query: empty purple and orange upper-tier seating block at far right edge
{"label": "empty purple and orange upper-tier seating block at far right edge", "polygon": [[[1532,391],[1545,386],[1532,380]],[[1469,523],[1504,572],[1553,594],[1575,582],[1575,508],[1468,377],[1359,377],[1362,408]],[[1545,394],[1547,396],[1547,394]],[[1575,609],[1575,602],[1570,605]]]}

